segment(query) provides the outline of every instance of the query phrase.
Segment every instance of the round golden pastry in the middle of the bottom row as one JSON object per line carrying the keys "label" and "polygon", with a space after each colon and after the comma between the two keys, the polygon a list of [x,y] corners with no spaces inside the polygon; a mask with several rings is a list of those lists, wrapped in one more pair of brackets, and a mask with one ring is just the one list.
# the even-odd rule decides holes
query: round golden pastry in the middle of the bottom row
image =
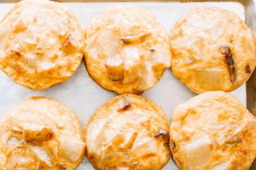
{"label": "round golden pastry in the middle of the bottom row", "polygon": [[154,102],[122,94],[85,125],[85,156],[96,170],[161,170],[169,161],[169,123]]}

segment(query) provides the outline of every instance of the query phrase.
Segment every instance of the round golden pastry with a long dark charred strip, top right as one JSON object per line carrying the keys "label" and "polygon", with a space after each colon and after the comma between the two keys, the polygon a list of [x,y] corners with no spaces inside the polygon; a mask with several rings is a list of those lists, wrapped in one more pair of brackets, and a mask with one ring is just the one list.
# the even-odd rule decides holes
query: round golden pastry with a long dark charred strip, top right
{"label": "round golden pastry with a long dark charred strip, top right", "polygon": [[228,10],[195,9],[174,25],[170,43],[174,75],[196,93],[233,91],[256,65],[253,32]]}

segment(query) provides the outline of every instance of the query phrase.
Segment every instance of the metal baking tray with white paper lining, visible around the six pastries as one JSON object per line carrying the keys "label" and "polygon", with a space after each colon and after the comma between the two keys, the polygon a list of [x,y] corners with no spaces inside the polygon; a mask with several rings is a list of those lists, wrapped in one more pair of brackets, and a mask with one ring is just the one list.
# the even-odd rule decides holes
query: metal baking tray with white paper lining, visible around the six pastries
{"label": "metal baking tray with white paper lining, visible around the six pastries", "polygon": [[[19,0],[0,0],[0,19]],[[63,2],[79,18],[82,28],[105,8],[116,4],[132,4],[144,8],[156,16],[158,21],[170,32],[175,22],[187,12],[202,6],[215,6],[234,11],[256,35],[256,6],[254,0],[57,0]],[[256,71],[250,80],[237,90],[231,92],[242,104],[256,115]],[[98,86],[88,75],[84,63],[77,72],[66,82],[42,91],[33,91],[17,85],[13,80],[0,71],[0,116],[8,109],[31,96],[45,96],[59,100],[71,108],[79,117],[82,128],[94,113],[95,109],[118,95]],[[165,111],[171,123],[174,108],[195,96],[185,85],[180,83],[167,68],[152,89],[145,91],[141,96],[158,103]],[[84,158],[77,170],[94,170]],[[170,159],[164,170],[178,170],[174,161]],[[256,163],[250,170],[256,170]]]}

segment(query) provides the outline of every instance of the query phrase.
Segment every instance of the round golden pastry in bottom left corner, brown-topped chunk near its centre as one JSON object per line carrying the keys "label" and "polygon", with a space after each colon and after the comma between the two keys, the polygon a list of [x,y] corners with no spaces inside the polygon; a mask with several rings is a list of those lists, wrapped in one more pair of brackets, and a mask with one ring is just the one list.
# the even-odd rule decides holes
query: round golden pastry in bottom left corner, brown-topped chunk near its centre
{"label": "round golden pastry in bottom left corner, brown-topped chunk near its centre", "polygon": [[54,99],[31,97],[0,118],[0,170],[75,170],[84,149],[78,117]]}

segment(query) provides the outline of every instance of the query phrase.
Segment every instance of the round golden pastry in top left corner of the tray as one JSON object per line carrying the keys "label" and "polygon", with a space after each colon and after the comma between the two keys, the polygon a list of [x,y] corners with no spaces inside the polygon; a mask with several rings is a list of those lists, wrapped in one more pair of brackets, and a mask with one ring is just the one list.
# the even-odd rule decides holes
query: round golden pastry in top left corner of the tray
{"label": "round golden pastry in top left corner of the tray", "polygon": [[22,0],[0,23],[0,69],[33,90],[69,79],[83,48],[79,20],[59,2]]}

